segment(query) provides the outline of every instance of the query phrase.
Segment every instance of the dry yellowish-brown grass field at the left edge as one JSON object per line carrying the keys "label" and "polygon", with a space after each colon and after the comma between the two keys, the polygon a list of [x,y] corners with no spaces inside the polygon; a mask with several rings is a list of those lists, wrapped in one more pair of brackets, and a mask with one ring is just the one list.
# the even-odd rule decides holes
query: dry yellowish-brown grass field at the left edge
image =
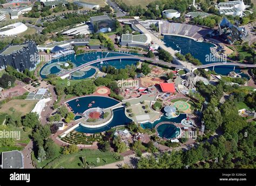
{"label": "dry yellowish-brown grass field at the left edge", "polygon": [[12,116],[12,119],[19,120],[26,113],[31,112],[37,101],[25,99],[13,99],[2,105],[1,112]]}

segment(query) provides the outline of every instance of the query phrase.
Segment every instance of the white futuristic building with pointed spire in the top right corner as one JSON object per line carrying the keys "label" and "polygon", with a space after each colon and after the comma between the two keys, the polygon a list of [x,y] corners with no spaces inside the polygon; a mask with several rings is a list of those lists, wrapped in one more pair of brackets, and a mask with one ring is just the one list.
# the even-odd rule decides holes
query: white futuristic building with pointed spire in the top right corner
{"label": "white futuristic building with pointed spire in the top right corner", "polygon": [[220,14],[231,16],[242,16],[242,12],[246,9],[245,3],[241,1],[221,2],[217,5]]}

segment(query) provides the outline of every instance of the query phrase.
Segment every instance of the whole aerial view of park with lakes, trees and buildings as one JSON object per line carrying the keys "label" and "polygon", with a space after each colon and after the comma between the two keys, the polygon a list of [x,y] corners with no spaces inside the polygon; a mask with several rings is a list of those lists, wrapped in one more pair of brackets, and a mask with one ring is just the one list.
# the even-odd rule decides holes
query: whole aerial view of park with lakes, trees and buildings
{"label": "whole aerial view of park with lakes, trees and buildings", "polygon": [[1,2],[1,167],[255,169],[254,5]]}

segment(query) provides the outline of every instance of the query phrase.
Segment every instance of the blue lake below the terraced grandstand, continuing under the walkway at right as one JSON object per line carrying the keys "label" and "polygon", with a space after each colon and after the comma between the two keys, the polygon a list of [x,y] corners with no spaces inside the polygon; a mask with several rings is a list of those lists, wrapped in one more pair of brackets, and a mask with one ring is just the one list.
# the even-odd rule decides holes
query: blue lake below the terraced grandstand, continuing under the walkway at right
{"label": "blue lake below the terraced grandstand, continuing under the walkway at right", "polygon": [[[172,47],[174,50],[180,51],[180,53],[183,55],[191,53],[191,55],[201,61],[203,65],[207,63],[212,63],[206,61],[206,55],[210,55],[210,48],[214,47],[214,45],[209,42],[197,42],[193,39],[176,35],[165,35],[164,42],[166,43],[166,46]],[[228,73],[230,73],[230,71],[233,71],[233,68],[233,66],[216,66],[214,68],[214,71],[221,75],[227,75]],[[212,70],[213,67],[210,67],[209,69]],[[240,69],[238,67],[235,67],[235,72],[239,73]]]}

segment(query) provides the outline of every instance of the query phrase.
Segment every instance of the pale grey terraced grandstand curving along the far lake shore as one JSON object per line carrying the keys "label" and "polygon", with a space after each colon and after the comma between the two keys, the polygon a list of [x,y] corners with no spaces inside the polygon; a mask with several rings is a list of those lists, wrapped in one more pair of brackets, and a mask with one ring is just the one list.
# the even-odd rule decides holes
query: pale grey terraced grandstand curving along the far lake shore
{"label": "pale grey terraced grandstand curving along the far lake shore", "polygon": [[194,39],[203,38],[210,30],[196,25],[163,22],[159,25],[161,34],[184,35]]}

